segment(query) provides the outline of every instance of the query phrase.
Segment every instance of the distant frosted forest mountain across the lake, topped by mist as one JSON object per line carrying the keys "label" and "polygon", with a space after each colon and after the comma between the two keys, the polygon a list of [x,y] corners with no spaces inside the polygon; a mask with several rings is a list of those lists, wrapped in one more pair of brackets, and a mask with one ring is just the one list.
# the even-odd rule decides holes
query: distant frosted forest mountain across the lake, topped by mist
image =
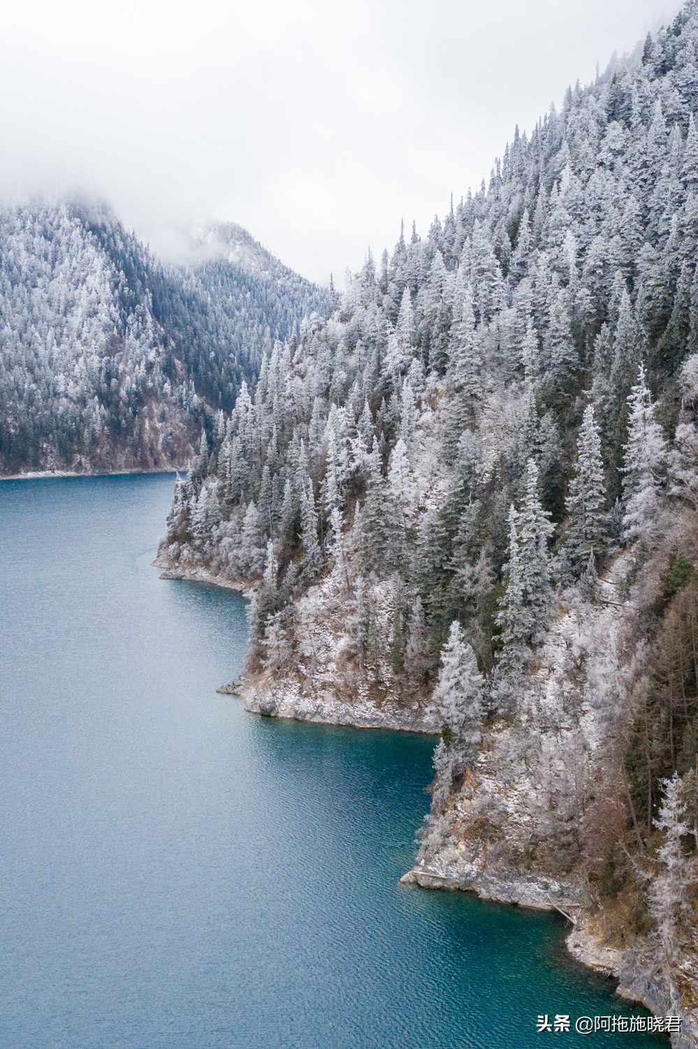
{"label": "distant frosted forest mountain across the lake, topped by mist", "polygon": [[106,209],[0,210],[0,472],[186,463],[326,293],[239,227],[162,265]]}

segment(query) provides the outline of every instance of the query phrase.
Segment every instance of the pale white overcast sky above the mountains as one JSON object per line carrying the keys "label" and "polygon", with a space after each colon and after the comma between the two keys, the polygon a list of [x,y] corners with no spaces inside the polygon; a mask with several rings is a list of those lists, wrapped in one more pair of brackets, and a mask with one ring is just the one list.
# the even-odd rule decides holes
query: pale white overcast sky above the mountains
{"label": "pale white overcast sky above the mountains", "polygon": [[7,0],[0,188],[90,192],[161,252],[245,226],[326,283],[487,177],[678,0]]}

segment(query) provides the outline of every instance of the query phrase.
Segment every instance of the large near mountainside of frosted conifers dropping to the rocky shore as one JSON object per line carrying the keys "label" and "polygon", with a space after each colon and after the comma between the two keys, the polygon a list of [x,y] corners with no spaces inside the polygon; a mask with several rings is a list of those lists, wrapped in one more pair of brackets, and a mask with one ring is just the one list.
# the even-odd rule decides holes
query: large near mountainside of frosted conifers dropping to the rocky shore
{"label": "large near mountainside of frosted conifers dropping to the rocky shore", "polygon": [[369,257],[242,387],[161,550],[256,584],[254,709],[442,726],[414,877],[580,916],[684,1045],[697,52],[691,0]]}

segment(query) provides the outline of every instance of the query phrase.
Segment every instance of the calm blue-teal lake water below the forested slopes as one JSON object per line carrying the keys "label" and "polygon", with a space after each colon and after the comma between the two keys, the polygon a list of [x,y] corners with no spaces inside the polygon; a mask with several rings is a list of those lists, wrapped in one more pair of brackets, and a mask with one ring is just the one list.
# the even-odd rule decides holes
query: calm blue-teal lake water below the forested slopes
{"label": "calm blue-teal lake water below the forested slopes", "polygon": [[244,602],[151,568],[168,476],[0,484],[0,1047],[610,1046],[564,923],[400,886],[432,743],[215,688]]}

